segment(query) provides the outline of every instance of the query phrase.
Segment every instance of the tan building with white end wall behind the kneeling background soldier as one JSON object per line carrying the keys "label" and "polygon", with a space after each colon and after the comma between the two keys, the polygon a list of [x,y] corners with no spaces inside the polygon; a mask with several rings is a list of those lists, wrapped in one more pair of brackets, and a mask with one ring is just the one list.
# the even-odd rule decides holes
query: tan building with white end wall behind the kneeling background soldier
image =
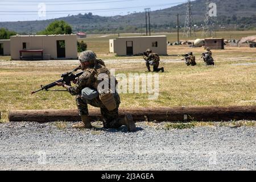
{"label": "tan building with white end wall behind the kneeling background soldier", "polygon": [[167,37],[161,36],[127,36],[109,40],[109,52],[118,56],[139,55],[152,49],[159,55],[167,55]]}

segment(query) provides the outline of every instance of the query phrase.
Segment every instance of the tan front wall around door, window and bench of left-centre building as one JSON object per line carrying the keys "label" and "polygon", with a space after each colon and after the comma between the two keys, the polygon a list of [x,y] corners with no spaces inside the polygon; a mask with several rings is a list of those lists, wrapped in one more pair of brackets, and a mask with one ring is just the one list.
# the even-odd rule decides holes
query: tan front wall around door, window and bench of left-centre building
{"label": "tan front wall around door, window and bench of left-centre building", "polygon": [[[57,40],[65,41],[65,57],[57,57]],[[11,59],[20,60],[19,51],[26,43],[26,50],[43,49],[44,59],[77,59],[77,36],[76,35],[31,35],[11,36]],[[31,56],[40,53],[26,53],[22,56]],[[36,55],[35,55],[36,56]]]}

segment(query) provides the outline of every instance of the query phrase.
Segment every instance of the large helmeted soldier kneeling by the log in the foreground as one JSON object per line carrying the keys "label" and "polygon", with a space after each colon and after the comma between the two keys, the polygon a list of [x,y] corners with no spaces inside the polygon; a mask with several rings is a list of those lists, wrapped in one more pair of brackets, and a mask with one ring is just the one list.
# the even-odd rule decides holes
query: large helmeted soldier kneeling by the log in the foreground
{"label": "large helmeted soldier kneeling by the log in the foreground", "polygon": [[[56,82],[58,86],[66,88],[72,96],[76,96],[76,105],[79,114],[81,115],[82,122],[73,125],[73,127],[92,128],[88,116],[88,104],[90,104],[94,107],[100,107],[101,115],[104,118],[103,125],[105,128],[117,129],[122,125],[126,125],[128,131],[135,131],[136,126],[131,114],[126,114],[124,118],[118,117],[118,107],[121,101],[119,94],[115,90],[117,81],[110,76],[110,72],[105,67],[104,61],[98,60],[93,51],[82,52],[79,56],[79,60],[81,69],[84,73],[78,78],[76,86],[69,86],[61,82]],[[114,86],[110,85],[113,85],[111,79],[114,79]],[[108,80],[106,81],[106,85],[109,85],[108,88],[101,88],[98,86],[105,80]],[[113,90],[111,90],[111,88],[113,88]]]}

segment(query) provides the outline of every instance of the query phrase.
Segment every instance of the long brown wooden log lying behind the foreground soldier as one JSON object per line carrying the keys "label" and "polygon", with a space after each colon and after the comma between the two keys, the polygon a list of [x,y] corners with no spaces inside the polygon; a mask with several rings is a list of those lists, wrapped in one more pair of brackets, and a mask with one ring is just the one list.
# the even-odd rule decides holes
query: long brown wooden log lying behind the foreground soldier
{"label": "long brown wooden log lying behind the foreground soldier", "polygon": [[[232,107],[157,107],[119,109],[119,117],[125,113],[133,115],[135,121],[230,121],[256,120],[256,106]],[[101,120],[100,110],[89,110],[91,120]],[[13,110],[9,121],[81,121],[77,110]]]}

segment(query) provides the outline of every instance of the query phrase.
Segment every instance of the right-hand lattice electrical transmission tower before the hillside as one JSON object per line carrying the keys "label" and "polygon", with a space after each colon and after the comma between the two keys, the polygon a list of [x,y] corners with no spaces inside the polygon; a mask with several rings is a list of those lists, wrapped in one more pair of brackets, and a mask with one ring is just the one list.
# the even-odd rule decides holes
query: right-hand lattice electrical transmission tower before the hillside
{"label": "right-hand lattice electrical transmission tower before the hillside", "polygon": [[204,26],[203,26],[203,35],[205,38],[211,37],[214,35],[214,17],[209,15],[210,11],[210,1],[205,0],[205,19],[204,19]]}

